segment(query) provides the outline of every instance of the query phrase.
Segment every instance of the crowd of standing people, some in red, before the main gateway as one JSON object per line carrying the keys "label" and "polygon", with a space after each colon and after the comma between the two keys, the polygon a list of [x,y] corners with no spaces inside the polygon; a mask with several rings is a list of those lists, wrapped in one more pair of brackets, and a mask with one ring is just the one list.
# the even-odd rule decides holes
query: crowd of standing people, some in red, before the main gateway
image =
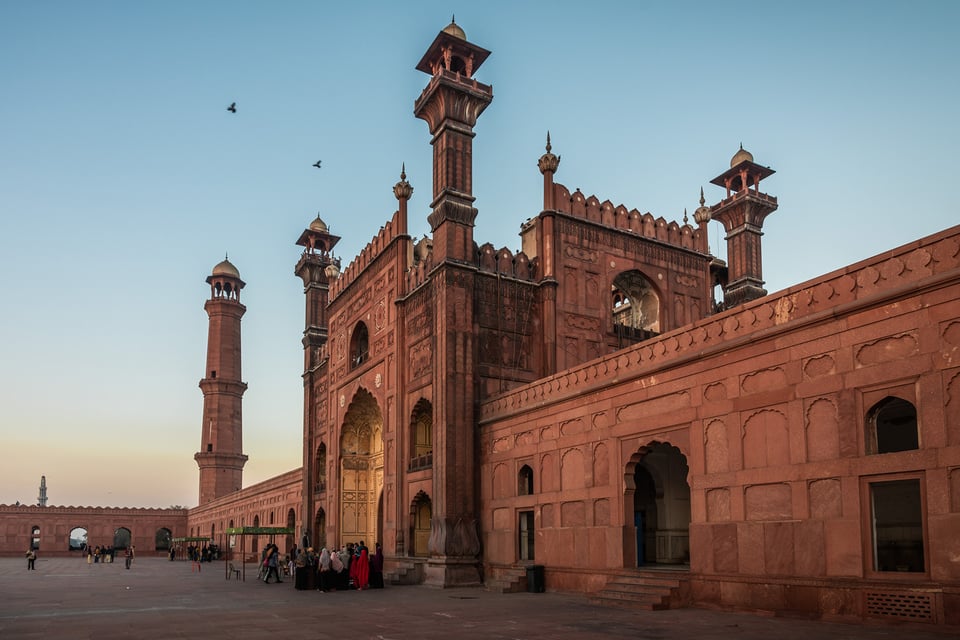
{"label": "crowd of standing people, some in red, before the main gateway", "polygon": [[337,591],[383,588],[383,548],[378,542],[373,555],[363,543],[347,543],[339,550],[326,547],[317,554],[313,547],[291,554],[294,587],[299,590]]}

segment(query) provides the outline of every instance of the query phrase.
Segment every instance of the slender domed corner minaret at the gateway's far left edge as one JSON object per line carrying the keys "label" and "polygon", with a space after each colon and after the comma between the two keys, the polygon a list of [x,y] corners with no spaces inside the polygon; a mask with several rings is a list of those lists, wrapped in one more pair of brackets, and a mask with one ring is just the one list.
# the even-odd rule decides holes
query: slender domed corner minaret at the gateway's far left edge
{"label": "slender domed corner minaret at the gateway's far left edge", "polygon": [[[329,319],[327,302],[330,299],[330,282],[340,274],[340,260],[331,253],[339,237],[330,233],[330,228],[320,219],[320,215],[310,226],[303,230],[297,244],[303,247],[303,254],[297,261],[293,272],[303,280],[303,294],[306,296],[306,320],[303,329],[303,410],[304,410],[304,447],[303,447],[303,522],[301,535],[307,535],[313,516],[317,512],[317,503],[323,490],[314,480],[318,476],[315,453],[322,441],[319,432],[321,416],[317,415],[317,395],[323,390],[317,387],[320,364],[323,359],[322,348],[327,343]],[[325,506],[326,508],[326,506]],[[314,532],[315,533],[315,532]],[[309,536],[313,540],[312,535]],[[314,540],[315,541],[315,540]]]}

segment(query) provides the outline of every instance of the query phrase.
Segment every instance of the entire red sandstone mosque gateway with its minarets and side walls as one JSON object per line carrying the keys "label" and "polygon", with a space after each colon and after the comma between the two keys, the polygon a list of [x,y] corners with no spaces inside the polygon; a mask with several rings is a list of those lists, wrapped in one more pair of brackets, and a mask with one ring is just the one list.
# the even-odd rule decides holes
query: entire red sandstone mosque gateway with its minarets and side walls
{"label": "entire red sandstone mosque gateway with its minarets and side walls", "polygon": [[244,283],[214,268],[185,533],[381,541],[397,582],[960,624],[960,227],[768,295],[750,153],[693,226],[571,193],[548,137],[543,209],[497,249],[473,237],[488,55],[451,24],[417,65],[429,238],[401,173],[346,269],[319,217],[297,240],[303,467],[239,491]]}

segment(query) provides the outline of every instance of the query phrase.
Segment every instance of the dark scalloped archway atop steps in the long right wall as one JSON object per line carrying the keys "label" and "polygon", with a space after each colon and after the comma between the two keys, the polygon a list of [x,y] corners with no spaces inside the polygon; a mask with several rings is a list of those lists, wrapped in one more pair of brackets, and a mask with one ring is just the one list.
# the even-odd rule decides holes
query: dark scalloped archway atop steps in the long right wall
{"label": "dark scalloped archway atop steps in the long right wall", "polygon": [[653,442],[630,458],[624,513],[634,535],[624,543],[623,555],[631,566],[689,564],[688,475],[686,456],[669,443]]}

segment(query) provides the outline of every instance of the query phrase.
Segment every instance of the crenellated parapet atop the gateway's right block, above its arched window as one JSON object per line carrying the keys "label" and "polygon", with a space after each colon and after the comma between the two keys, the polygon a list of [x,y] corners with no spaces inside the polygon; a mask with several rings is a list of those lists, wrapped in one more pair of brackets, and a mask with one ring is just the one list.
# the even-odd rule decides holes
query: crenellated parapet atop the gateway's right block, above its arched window
{"label": "crenellated parapet atop the gateway's right block, above its arched window", "polygon": [[684,249],[698,250],[702,231],[684,222],[667,222],[654,218],[649,212],[627,209],[597,196],[584,195],[579,189],[570,191],[560,183],[553,183],[554,210],[605,227],[630,231],[645,238],[658,240]]}

